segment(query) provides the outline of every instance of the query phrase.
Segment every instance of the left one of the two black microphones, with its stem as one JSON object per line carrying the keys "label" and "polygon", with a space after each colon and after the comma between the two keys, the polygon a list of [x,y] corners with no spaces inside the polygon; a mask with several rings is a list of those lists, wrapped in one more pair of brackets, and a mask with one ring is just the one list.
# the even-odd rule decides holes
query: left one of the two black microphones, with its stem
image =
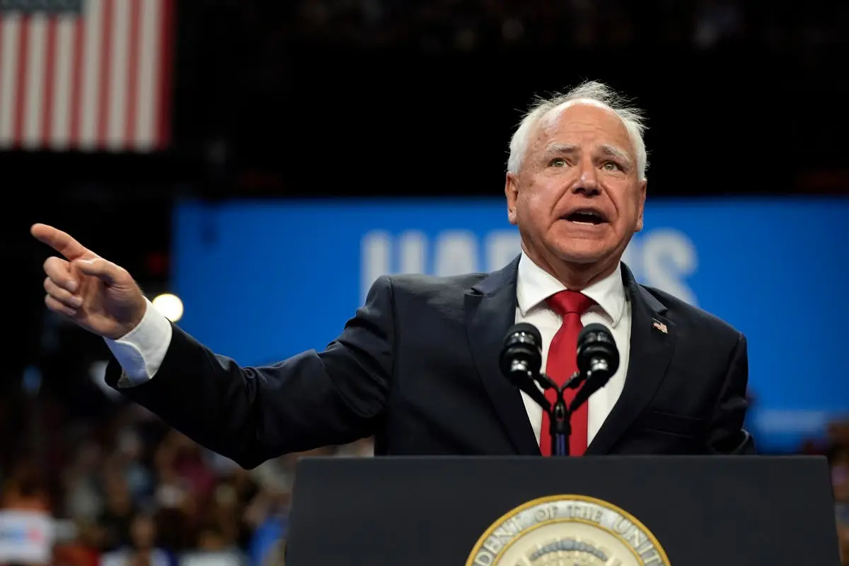
{"label": "left one of the two black microphones, with its stem", "polygon": [[535,383],[540,378],[539,370],[543,366],[543,337],[537,327],[527,322],[510,327],[504,337],[498,361],[501,373],[516,387],[541,406],[551,406]]}

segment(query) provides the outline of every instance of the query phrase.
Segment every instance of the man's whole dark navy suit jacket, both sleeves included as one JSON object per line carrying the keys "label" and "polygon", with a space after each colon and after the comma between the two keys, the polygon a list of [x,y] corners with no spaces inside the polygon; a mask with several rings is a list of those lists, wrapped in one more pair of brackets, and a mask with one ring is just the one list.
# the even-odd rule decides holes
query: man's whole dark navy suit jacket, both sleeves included
{"label": "man's whole dark navy suit jacket, both sleeves included", "polygon": [[[380,277],[325,350],[271,367],[239,367],[174,327],[155,377],[119,390],[245,468],[371,435],[378,455],[539,455],[520,392],[498,368],[518,263],[489,274]],[[639,285],[627,266],[621,273],[631,357],[621,398],[587,453],[754,451],[742,428],[745,337]],[[120,375],[113,360],[108,383]]]}

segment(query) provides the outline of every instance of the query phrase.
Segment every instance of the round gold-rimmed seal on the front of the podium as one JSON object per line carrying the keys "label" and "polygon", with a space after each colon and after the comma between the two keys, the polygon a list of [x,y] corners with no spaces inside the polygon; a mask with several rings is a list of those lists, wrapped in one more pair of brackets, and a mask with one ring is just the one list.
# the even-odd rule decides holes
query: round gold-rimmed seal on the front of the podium
{"label": "round gold-rimmed seal on the front of the podium", "polygon": [[466,566],[669,566],[645,525],[586,496],[548,496],[499,518],[475,544]]}

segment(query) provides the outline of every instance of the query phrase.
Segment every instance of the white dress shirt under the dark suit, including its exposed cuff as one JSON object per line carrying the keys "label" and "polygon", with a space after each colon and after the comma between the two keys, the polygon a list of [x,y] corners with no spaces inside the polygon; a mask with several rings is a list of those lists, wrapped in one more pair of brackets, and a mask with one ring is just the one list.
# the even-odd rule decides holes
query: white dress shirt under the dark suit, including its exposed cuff
{"label": "white dress shirt under the dark suit, including its exposed cuff", "polygon": [[[566,289],[563,283],[537,266],[524,253],[519,261],[519,273],[516,284],[516,322],[530,322],[539,329],[543,337],[543,367],[548,359],[548,345],[560,328],[562,317],[548,307],[548,297]],[[631,305],[626,299],[621,272],[617,269],[609,277],[593,283],[583,289],[595,305],[584,313],[581,322],[584,326],[600,322],[613,333],[619,348],[619,369],[602,389],[589,399],[587,441],[592,442],[599,432],[610,409],[616,404],[625,384],[628,366],[628,352],[631,344]],[[171,322],[162,316],[148,301],[147,311],[142,322],[121,339],[106,339],[106,345],[121,364],[124,374],[118,381],[119,387],[132,387],[143,384],[156,375],[165,359],[168,345],[171,344]],[[493,356],[495,354],[493,353]],[[522,393],[525,408],[531,426],[539,443],[540,430],[543,427],[543,409],[529,395]]]}

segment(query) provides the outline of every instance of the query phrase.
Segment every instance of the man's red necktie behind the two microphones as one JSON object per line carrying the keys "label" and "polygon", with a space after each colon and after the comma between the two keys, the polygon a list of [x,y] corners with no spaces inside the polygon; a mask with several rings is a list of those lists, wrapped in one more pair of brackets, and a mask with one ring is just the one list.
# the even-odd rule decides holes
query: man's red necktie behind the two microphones
{"label": "man's red necktie behind the two microphones", "polygon": [[[587,311],[593,300],[577,291],[560,291],[548,297],[548,306],[563,317],[560,329],[554,334],[551,345],[548,346],[548,361],[545,373],[554,383],[562,385],[571,378],[577,367],[577,342],[583,324],[581,315]],[[575,398],[577,389],[566,389],[563,398],[569,406]],[[546,399],[554,406],[557,399],[552,389],[545,392]],[[589,403],[583,403],[571,416],[571,436],[569,437],[570,456],[582,456],[587,451],[587,417]],[[543,411],[543,430],[540,434],[539,449],[543,456],[551,456],[551,434],[548,430],[548,413]]]}

